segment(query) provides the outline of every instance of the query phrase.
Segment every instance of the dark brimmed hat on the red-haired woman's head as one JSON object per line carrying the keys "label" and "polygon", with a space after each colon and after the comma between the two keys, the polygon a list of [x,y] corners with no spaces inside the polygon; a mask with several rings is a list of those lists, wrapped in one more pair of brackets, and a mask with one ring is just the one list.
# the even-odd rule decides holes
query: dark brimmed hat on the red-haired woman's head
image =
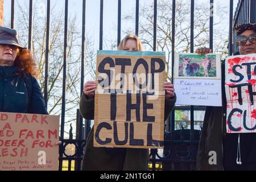
{"label": "dark brimmed hat on the red-haired woman's head", "polygon": [[18,33],[16,30],[0,26],[0,44],[7,44],[26,48],[19,43]]}

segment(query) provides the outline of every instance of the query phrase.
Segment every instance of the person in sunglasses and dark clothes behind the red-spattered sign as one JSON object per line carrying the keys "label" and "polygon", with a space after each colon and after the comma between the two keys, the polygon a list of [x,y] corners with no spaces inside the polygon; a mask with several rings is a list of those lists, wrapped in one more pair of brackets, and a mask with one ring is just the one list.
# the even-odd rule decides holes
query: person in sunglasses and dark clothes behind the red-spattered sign
{"label": "person in sunglasses and dark clothes behind the red-spattered sign", "polygon": [[[242,24],[237,32],[239,52],[234,55],[256,53],[256,23]],[[196,53],[211,53],[209,48]],[[225,60],[222,61],[222,105],[207,107],[197,152],[196,170],[256,170],[256,133],[226,133]]]}

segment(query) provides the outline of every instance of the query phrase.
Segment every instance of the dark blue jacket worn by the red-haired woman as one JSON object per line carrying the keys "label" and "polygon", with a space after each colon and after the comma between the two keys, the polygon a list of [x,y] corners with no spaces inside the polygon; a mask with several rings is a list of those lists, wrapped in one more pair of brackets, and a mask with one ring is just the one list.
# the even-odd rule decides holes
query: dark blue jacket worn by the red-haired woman
{"label": "dark blue jacket worn by the red-haired woman", "polygon": [[20,76],[14,66],[0,66],[0,111],[48,114],[36,78]]}

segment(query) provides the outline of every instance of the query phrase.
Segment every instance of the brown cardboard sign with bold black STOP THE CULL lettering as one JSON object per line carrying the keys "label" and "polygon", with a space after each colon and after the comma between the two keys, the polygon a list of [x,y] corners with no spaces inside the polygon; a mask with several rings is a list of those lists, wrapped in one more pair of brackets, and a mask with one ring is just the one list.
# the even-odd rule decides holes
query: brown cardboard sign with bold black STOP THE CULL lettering
{"label": "brown cardboard sign with bold black STOP THE CULL lettering", "polygon": [[94,146],[162,148],[165,53],[98,51]]}

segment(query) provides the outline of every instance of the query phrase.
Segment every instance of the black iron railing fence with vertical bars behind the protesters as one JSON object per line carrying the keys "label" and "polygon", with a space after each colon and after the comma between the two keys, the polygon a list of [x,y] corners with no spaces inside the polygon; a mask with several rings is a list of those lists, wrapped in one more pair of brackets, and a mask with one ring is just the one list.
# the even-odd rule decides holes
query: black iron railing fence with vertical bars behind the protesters
{"label": "black iron railing fence with vertical bars behind the protesters", "polygon": [[[63,168],[63,161],[68,161],[68,170],[71,170],[72,161],[75,161],[75,170],[81,169],[81,160],[84,155],[84,146],[86,143],[86,137],[90,130],[90,121],[86,121],[83,124],[83,119],[77,109],[77,125],[76,125],[76,139],[72,135],[72,126],[69,132],[69,139],[64,139],[64,124],[65,124],[65,97],[66,97],[66,80],[67,80],[67,37],[68,37],[68,2],[65,1],[65,23],[64,23],[64,59],[63,59],[63,90],[62,90],[62,107],[61,107],[61,127],[60,127],[60,140],[63,144],[59,150],[59,170]],[[71,0],[70,0],[71,1]],[[82,94],[84,85],[84,68],[85,68],[85,11],[86,0],[82,1],[82,41],[81,41],[81,87],[80,94]],[[139,0],[136,1],[135,8],[135,34],[139,34]],[[32,42],[32,15],[33,15],[33,3],[35,1],[30,0],[29,7],[29,27],[28,27],[28,48],[31,48]],[[107,2],[107,1],[105,1]],[[236,39],[236,34],[233,34],[233,26],[241,23],[255,22],[255,1],[240,0],[236,9],[233,20],[233,0],[230,0],[229,10],[229,55],[232,55],[234,51],[237,51],[236,46],[233,47],[233,40]],[[48,103],[48,69],[49,69],[49,28],[50,28],[50,6],[51,1],[47,0],[47,34],[46,34],[46,69],[45,69],[45,82],[44,82],[44,100],[46,105]],[[121,40],[121,0],[117,0],[118,3],[118,28],[117,28],[117,44]],[[11,0],[11,24],[10,27],[14,28],[14,5],[15,1]],[[213,49],[213,5],[214,1],[209,0],[209,47]],[[156,23],[157,23],[157,7],[158,1],[154,0],[154,40],[153,51],[156,51]],[[172,0],[172,73],[174,73],[174,53],[175,53],[175,10],[176,1]],[[194,12],[195,0],[191,0],[191,47],[190,51],[194,52]],[[102,49],[103,42],[103,13],[104,13],[104,0],[100,0],[100,42],[99,48]],[[234,35],[234,36],[233,36]],[[172,77],[173,78],[173,77]],[[173,80],[172,80],[173,81]],[[184,129],[181,125],[181,129],[177,129],[175,124],[179,121],[175,121],[175,113],[178,110],[190,111],[190,129]],[[205,107],[200,106],[175,106],[170,118],[167,119],[164,133],[164,150],[151,150],[150,151],[150,169],[157,170],[195,170],[197,147],[200,139],[200,129],[195,129],[195,111],[204,111]],[[75,153],[70,155],[66,154],[65,148],[68,145],[75,147]],[[160,154],[162,152],[162,154]]]}

